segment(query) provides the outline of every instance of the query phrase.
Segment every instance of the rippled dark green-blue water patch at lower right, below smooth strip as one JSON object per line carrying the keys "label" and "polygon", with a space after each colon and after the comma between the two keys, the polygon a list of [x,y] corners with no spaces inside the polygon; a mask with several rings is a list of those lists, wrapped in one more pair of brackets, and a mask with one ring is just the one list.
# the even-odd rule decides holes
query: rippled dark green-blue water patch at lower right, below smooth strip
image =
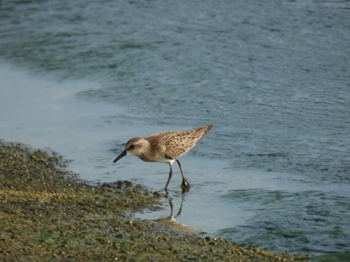
{"label": "rippled dark green-blue water patch at lower right, below smooth strip", "polygon": [[[223,236],[235,235],[251,245],[289,252],[296,248],[303,253],[341,252],[342,247],[350,244],[346,226],[350,220],[343,217],[349,213],[344,208],[349,197],[322,191],[244,191],[230,192],[223,198],[255,213],[246,220],[246,225],[219,230]],[[327,208],[329,205],[331,210]],[[248,232],[249,238],[241,238]]]}

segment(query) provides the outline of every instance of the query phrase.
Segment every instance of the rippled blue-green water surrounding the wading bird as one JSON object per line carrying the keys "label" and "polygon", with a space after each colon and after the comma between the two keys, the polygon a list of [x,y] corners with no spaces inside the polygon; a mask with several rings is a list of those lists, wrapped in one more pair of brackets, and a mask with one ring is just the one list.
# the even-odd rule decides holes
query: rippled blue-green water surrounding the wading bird
{"label": "rippled blue-green water surrounding the wading bird", "polygon": [[[195,231],[274,251],[350,252],[348,1],[2,1],[2,139],[84,179],[161,190],[135,136],[214,124],[169,185]],[[174,168],[178,172],[177,167]],[[176,176],[177,175],[177,176]],[[156,219],[165,210],[136,217]],[[337,256],[336,256],[337,257]]]}

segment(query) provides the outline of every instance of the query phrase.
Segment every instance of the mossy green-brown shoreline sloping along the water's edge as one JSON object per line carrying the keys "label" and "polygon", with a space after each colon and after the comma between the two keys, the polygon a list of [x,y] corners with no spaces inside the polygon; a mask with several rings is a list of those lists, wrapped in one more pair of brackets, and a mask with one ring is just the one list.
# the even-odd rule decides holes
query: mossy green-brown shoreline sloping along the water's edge
{"label": "mossy green-brown shoreline sloping along the water's edge", "polygon": [[128,213],[164,197],[118,181],[93,187],[54,152],[0,140],[2,261],[301,261]]}

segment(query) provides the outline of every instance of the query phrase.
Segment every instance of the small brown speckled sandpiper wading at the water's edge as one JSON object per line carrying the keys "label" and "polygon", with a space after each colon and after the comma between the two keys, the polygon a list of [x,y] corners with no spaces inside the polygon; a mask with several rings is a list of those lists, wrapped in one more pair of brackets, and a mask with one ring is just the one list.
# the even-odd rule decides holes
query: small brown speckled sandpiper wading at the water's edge
{"label": "small brown speckled sandpiper wading at the water's edge", "polygon": [[141,160],[146,162],[164,162],[170,166],[169,179],[164,190],[167,190],[170,179],[173,175],[173,162],[179,164],[182,184],[189,188],[190,184],[184,177],[178,157],[189,151],[195,146],[213,127],[213,125],[203,126],[188,131],[165,131],[151,134],[145,138],[135,137],[127,141],[125,150],[114,159],[113,163],[126,155],[137,155]]}

